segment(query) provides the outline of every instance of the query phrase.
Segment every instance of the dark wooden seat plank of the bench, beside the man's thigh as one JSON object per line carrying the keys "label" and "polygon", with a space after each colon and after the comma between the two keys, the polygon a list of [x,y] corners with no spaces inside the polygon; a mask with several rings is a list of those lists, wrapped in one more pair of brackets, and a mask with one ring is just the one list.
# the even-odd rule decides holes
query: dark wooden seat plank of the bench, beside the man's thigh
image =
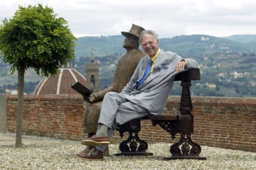
{"label": "dark wooden seat plank of the bench, beside the man's thigh", "polygon": [[144,120],[190,120],[190,115],[147,115]]}

